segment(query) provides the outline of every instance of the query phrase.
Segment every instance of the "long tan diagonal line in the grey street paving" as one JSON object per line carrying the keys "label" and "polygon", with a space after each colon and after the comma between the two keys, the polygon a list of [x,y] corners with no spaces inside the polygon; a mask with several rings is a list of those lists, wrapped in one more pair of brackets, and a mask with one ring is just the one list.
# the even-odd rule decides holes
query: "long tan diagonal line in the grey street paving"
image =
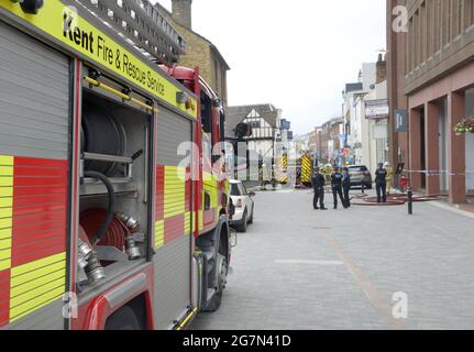
{"label": "long tan diagonal line in the grey street paving", "polygon": [[393,306],[387,301],[384,295],[377,290],[374,285],[367,279],[364,273],[352,262],[350,255],[339,241],[331,235],[328,230],[321,230],[329,244],[337,252],[340,260],[344,263],[349,273],[354,277],[359,286],[364,292],[371,305],[375,308],[377,314],[384,317],[387,321],[389,329],[404,329],[405,323],[403,320],[395,319],[392,315]]}

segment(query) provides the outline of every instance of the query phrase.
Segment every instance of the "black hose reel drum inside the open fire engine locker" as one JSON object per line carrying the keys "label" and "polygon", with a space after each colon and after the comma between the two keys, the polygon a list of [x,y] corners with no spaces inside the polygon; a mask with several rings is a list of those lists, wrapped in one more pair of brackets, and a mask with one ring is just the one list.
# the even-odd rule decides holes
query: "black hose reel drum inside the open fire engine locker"
{"label": "black hose reel drum inside the open fire engine locker", "polygon": [[[93,103],[84,106],[82,152],[123,156],[126,150],[126,134],[123,125],[104,108]],[[119,165],[112,162],[86,161],[85,169],[113,177]]]}

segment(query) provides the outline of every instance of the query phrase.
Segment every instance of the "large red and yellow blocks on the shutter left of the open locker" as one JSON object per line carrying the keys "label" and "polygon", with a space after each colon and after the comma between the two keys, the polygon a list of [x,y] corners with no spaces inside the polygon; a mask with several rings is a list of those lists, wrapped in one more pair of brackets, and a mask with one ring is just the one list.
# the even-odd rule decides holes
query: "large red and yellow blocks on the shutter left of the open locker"
{"label": "large red and yellow blocks on the shutter left of the open locker", "polygon": [[0,155],[0,327],[65,292],[67,175],[67,161]]}

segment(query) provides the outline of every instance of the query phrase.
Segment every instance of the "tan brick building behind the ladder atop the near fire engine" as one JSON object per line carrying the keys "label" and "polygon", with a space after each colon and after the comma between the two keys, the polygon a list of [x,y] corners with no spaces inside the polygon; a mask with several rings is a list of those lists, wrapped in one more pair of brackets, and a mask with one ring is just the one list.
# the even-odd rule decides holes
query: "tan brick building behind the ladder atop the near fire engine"
{"label": "tan brick building behind the ladder atop the near fire engine", "polygon": [[192,31],[191,6],[192,0],[172,0],[172,12],[169,12],[159,3],[155,4],[186,41],[186,54],[181,55],[179,65],[199,66],[201,76],[227,107],[227,72],[230,67],[216,45]]}

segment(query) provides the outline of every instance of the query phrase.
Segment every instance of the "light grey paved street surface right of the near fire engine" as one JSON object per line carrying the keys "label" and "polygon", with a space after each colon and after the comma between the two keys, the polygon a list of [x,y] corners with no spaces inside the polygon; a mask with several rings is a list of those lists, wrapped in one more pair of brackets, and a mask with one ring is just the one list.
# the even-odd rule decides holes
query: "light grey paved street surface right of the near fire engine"
{"label": "light grey paved street surface right of the near fire engine", "polygon": [[[327,200],[332,196],[327,195]],[[191,329],[473,329],[474,219],[432,204],[313,211],[258,193],[221,309]],[[395,319],[395,293],[408,318]]]}

